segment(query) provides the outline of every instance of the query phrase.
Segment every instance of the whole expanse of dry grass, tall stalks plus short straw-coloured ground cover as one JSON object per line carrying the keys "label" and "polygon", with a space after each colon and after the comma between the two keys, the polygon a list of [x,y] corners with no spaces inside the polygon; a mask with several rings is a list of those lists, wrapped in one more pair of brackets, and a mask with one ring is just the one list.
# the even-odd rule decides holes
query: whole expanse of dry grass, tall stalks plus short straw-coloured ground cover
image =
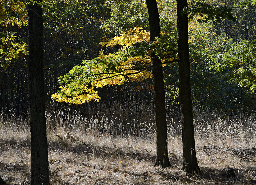
{"label": "whole expanse of dry grass, tall stalks plus short straw-coloured ground cover", "polygon": [[[80,111],[49,107],[46,120],[51,184],[256,184],[253,116],[195,113],[202,174],[191,176],[181,170],[179,116],[168,107],[167,115],[172,167],[162,169],[153,166],[154,118],[147,104],[92,105]],[[29,184],[30,131],[26,115],[0,116],[0,147],[2,179],[6,184]],[[235,175],[226,175],[224,168],[234,168]]]}

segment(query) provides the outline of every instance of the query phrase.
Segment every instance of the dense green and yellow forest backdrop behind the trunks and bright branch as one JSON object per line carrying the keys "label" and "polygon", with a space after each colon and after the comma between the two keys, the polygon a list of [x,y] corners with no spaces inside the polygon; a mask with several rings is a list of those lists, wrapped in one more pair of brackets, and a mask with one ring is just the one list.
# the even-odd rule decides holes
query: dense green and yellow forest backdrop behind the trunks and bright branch
{"label": "dense green and yellow forest backdrop behind the trunks and bright branch", "polygon": [[[149,31],[144,1],[47,1],[43,11],[45,101],[62,84],[61,75],[82,61],[113,53],[118,47],[100,44],[134,27]],[[190,2],[190,4],[196,2]],[[235,21],[220,18],[217,24],[208,15],[195,14],[189,21],[191,92],[193,106],[230,112],[255,109],[255,6],[247,1],[209,1],[212,6],[232,9]],[[158,3],[164,42],[175,47],[176,2]],[[27,14],[23,2],[1,2],[1,106],[19,114],[28,108]],[[192,18],[193,17],[193,18]],[[170,43],[174,42],[174,43]],[[135,47],[135,46],[134,46]],[[141,55],[142,55],[141,51]],[[165,53],[163,53],[165,54]],[[144,53],[145,55],[145,53]],[[166,54],[166,57],[169,57]],[[166,103],[177,107],[177,62],[163,68]],[[104,101],[150,102],[152,80],[125,81],[122,85],[98,88]]]}

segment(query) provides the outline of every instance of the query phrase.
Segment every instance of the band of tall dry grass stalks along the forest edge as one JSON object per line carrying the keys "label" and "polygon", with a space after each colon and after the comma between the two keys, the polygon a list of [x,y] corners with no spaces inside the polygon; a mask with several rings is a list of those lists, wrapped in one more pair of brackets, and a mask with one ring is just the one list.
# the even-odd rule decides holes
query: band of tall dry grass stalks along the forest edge
{"label": "band of tall dry grass stalks along the forest edge", "polygon": [[[152,102],[90,103],[81,108],[47,106],[46,124],[48,132],[77,133],[96,137],[155,139],[154,108]],[[169,143],[181,145],[182,125],[178,111],[166,107]],[[29,131],[28,113],[0,114],[0,133]],[[230,115],[214,110],[194,110],[194,131],[197,145],[222,145],[251,147],[256,143],[256,116],[250,114]]]}

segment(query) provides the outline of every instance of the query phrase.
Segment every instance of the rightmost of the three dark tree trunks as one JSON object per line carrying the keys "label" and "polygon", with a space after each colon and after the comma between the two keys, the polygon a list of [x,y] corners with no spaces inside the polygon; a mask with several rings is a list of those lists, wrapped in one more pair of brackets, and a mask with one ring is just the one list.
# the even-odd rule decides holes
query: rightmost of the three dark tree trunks
{"label": "rightmost of the three dark tree trunks", "polygon": [[177,0],[177,31],[179,53],[179,100],[182,120],[183,169],[189,173],[199,173],[194,139],[193,110],[190,88],[190,63],[188,43],[188,17],[181,15],[187,0]]}

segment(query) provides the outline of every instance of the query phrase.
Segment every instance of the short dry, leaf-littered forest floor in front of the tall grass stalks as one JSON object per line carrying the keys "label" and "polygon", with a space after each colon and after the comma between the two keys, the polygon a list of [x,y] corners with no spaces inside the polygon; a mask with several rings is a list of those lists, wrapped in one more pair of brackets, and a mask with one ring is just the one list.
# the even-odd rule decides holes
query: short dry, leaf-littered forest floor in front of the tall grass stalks
{"label": "short dry, leaf-littered forest floor in front of the tall grass stalks", "polygon": [[[256,146],[196,140],[200,175],[182,170],[181,139],[169,141],[170,168],[154,167],[155,140],[48,131],[50,183],[256,184]],[[54,135],[58,134],[62,137]],[[79,137],[79,138],[78,138]],[[236,145],[238,146],[238,145]],[[30,131],[0,131],[3,184],[30,184]],[[226,174],[227,168],[231,173]],[[226,170],[225,170],[226,169]],[[233,172],[234,170],[234,172]],[[229,172],[229,171],[228,171]],[[1,183],[0,183],[1,184]]]}

